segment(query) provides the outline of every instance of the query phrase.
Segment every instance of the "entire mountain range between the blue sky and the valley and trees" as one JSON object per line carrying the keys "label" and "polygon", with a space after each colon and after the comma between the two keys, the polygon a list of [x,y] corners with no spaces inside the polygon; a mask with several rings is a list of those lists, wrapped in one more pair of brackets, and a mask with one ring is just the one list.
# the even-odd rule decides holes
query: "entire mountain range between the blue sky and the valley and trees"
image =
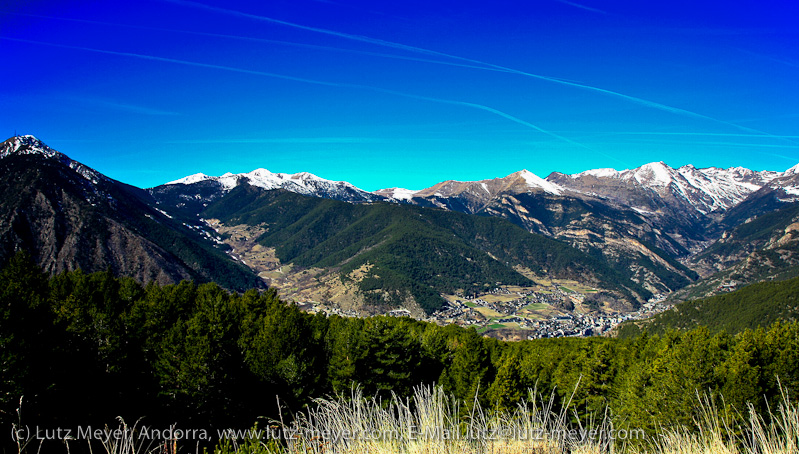
{"label": "entire mountain range between the blue sky and the valley and trees", "polygon": [[[634,307],[681,289],[712,294],[706,279],[782,278],[795,268],[786,251],[799,220],[799,165],[656,162],[546,178],[522,170],[375,192],[258,169],[142,190],[17,136],[0,145],[0,166],[0,259],[26,249],[50,272],[111,268],[140,281],[239,289],[290,265],[310,273],[308,285],[341,284],[354,306],[429,313],[443,304],[440,293],[535,276],[578,279]],[[244,250],[231,247],[236,235]],[[254,251],[271,268],[255,266]],[[781,259],[719,275],[751,254]]]}

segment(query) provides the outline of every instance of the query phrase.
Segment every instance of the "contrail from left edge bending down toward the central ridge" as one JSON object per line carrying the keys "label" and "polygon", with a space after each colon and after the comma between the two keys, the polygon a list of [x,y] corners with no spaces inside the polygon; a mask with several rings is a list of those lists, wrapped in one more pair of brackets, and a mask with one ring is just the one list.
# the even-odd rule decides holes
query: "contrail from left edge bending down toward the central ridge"
{"label": "contrail from left edge bending down toward the central ridge", "polygon": [[380,87],[373,87],[373,86],[370,86],[370,85],[338,83],[338,82],[326,82],[326,81],[323,81],[323,80],[307,79],[307,78],[303,78],[303,77],[288,76],[288,75],[285,75],[285,74],[278,74],[278,73],[272,73],[272,72],[266,72],[266,71],[255,71],[255,70],[251,70],[251,69],[236,68],[236,67],[233,67],[233,66],[214,65],[214,64],[210,64],[210,63],[199,63],[199,62],[194,62],[194,61],[189,61],[189,60],[179,60],[179,59],[176,59],[176,58],[157,57],[157,56],[154,56],[154,55],[136,54],[136,53],[132,53],[132,52],[119,52],[119,51],[113,51],[113,50],[95,49],[95,48],[91,48],[91,47],[69,46],[69,45],[66,45],[66,44],[47,43],[47,42],[43,42],[43,41],[33,41],[33,40],[21,39],[21,38],[9,38],[9,37],[4,37],[4,36],[0,36],[0,39],[4,39],[4,40],[8,40],[8,41],[17,41],[17,42],[29,43],[29,44],[38,44],[38,45],[44,45],[44,46],[51,46],[51,47],[59,47],[59,48],[62,48],[62,49],[82,50],[82,51],[86,51],[86,52],[95,52],[95,53],[106,54],[106,55],[117,55],[117,56],[122,56],[122,57],[138,58],[138,59],[142,59],[142,60],[158,61],[158,62],[165,62],[165,63],[176,63],[176,64],[180,64],[180,65],[195,66],[195,67],[199,67],[199,68],[210,68],[210,69],[218,69],[218,70],[223,70],[223,71],[232,71],[232,72],[243,73],[243,74],[252,74],[252,75],[256,75],[256,76],[273,77],[273,78],[276,78],[276,79],[290,80],[290,81],[294,81],[294,82],[303,82],[303,83],[314,84],[314,85],[323,85],[323,86],[327,86],[327,87],[353,88],[353,89],[359,89],[359,90],[370,90],[370,91],[379,92],[379,93],[386,93],[386,94],[390,94],[390,95],[394,95],[394,96],[401,96],[401,97],[404,97],[404,98],[419,99],[419,100],[423,100],[423,101],[430,101],[430,102],[436,102],[436,103],[441,103],[441,104],[449,104],[449,105],[454,105],[454,106],[471,107],[471,108],[474,108],[474,109],[478,109],[478,110],[482,110],[482,111],[485,111],[485,112],[492,113],[494,115],[498,115],[498,116],[500,116],[502,118],[505,118],[507,120],[513,121],[515,123],[518,123],[520,125],[526,126],[528,128],[534,129],[536,131],[539,131],[539,132],[541,132],[543,134],[549,135],[549,136],[554,137],[556,139],[563,140],[563,141],[565,141],[567,143],[570,143],[572,145],[575,145],[575,146],[578,146],[578,147],[581,147],[581,148],[585,148],[585,149],[588,149],[588,150],[592,150],[590,147],[588,147],[586,145],[577,143],[577,142],[575,142],[575,141],[573,141],[571,139],[568,139],[568,138],[563,137],[561,135],[558,135],[558,134],[555,134],[553,132],[547,131],[546,129],[543,129],[543,128],[539,127],[539,126],[536,126],[536,125],[534,125],[534,124],[532,124],[532,123],[530,123],[528,121],[522,120],[521,118],[514,117],[513,115],[510,115],[508,113],[502,112],[502,111],[497,110],[497,109],[494,109],[493,107],[485,106],[483,104],[476,104],[476,103],[471,103],[471,102],[466,102],[466,101],[453,101],[453,100],[449,100],[449,99],[433,98],[433,97],[429,97],[429,96],[414,95],[414,94],[410,94],[410,93],[403,93],[403,92],[389,90],[389,89],[380,88]]}

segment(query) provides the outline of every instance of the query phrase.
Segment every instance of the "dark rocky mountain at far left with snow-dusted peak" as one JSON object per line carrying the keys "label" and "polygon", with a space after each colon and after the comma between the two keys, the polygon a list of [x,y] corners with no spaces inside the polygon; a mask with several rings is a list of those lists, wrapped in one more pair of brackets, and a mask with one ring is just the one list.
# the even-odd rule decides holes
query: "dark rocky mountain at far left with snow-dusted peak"
{"label": "dark rocky mountain at far left with snow-dusted peak", "polygon": [[[33,136],[0,144],[0,176],[0,261],[27,250],[51,273],[110,269],[140,282],[167,284],[214,280],[214,273],[226,270],[235,276],[229,284],[259,285],[248,269],[228,263],[222,250],[152,206],[144,191]],[[209,271],[214,263],[217,271]]]}

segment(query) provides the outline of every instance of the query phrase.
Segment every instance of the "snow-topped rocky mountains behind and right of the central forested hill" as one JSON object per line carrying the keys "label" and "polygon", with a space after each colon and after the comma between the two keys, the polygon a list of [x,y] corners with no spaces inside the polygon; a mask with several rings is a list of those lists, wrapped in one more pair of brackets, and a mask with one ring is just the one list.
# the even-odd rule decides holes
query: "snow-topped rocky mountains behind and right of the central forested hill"
{"label": "snow-topped rocky mountains behind and right of the central forested hill", "polygon": [[504,178],[449,180],[421,191],[378,193],[405,203],[504,217],[530,232],[599,254],[658,293],[681,288],[756,250],[751,244],[714,257],[712,264],[692,260],[746,218],[799,199],[797,169],[675,169],[653,162],[622,171],[555,172],[546,179],[523,170]]}

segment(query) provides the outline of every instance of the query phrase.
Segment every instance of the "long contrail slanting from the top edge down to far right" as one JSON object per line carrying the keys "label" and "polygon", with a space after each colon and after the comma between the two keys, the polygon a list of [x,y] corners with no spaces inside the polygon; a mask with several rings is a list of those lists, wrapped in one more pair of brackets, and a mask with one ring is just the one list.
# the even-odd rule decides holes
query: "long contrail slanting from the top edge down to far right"
{"label": "long contrail slanting from the top edge down to far right", "polygon": [[182,5],[182,6],[189,6],[189,7],[193,7],[193,8],[199,8],[199,9],[205,9],[205,10],[208,10],[208,11],[214,11],[214,12],[218,12],[218,13],[222,13],[222,14],[238,16],[238,17],[244,17],[244,18],[248,18],[248,19],[254,19],[254,20],[269,22],[269,23],[273,23],[273,24],[284,25],[284,26],[287,26],[287,27],[297,28],[297,29],[300,29],[300,30],[311,31],[311,32],[314,32],[314,33],[320,33],[320,34],[330,35],[330,36],[337,36],[337,37],[340,37],[340,38],[345,38],[345,39],[349,39],[349,40],[353,40],[353,41],[360,41],[360,42],[369,43],[369,44],[375,44],[375,45],[378,45],[378,46],[388,47],[388,48],[392,48],[392,49],[406,50],[406,51],[409,51],[409,52],[417,52],[417,53],[423,53],[423,54],[426,54],[426,55],[435,55],[435,56],[438,56],[438,57],[445,57],[445,58],[450,58],[450,59],[454,59],[454,60],[465,61],[465,62],[469,62],[469,63],[475,64],[475,65],[479,65],[479,67],[476,68],[476,69],[499,70],[499,71],[507,72],[507,73],[511,73],[511,74],[517,74],[517,75],[521,75],[521,76],[531,77],[531,78],[538,79],[538,80],[544,80],[544,81],[547,81],[547,82],[553,82],[553,83],[556,83],[556,84],[566,85],[566,86],[569,86],[569,87],[575,87],[575,88],[580,88],[580,89],[583,89],[583,90],[602,93],[602,94],[609,95],[609,96],[619,97],[619,98],[625,99],[627,101],[630,101],[630,102],[633,102],[633,103],[636,103],[636,104],[640,104],[640,105],[643,105],[643,106],[646,106],[646,107],[651,107],[651,108],[654,108],[654,109],[663,110],[663,111],[670,112],[670,113],[677,114],[677,115],[684,115],[684,116],[688,116],[688,117],[692,117],[692,118],[712,121],[712,122],[724,124],[724,125],[727,125],[727,126],[731,126],[733,128],[737,128],[737,129],[740,129],[742,131],[756,132],[758,134],[769,135],[769,136],[771,135],[771,134],[769,134],[767,132],[764,132],[764,131],[759,131],[757,129],[748,128],[746,126],[741,126],[741,125],[738,125],[738,124],[735,124],[735,123],[731,123],[729,121],[720,120],[718,118],[709,117],[707,115],[703,115],[703,114],[700,114],[700,113],[692,112],[692,111],[686,110],[686,109],[681,109],[679,107],[672,107],[672,106],[668,106],[666,104],[661,104],[661,103],[658,103],[658,102],[655,102],[655,101],[650,101],[650,100],[639,98],[639,97],[636,97],[636,96],[626,95],[624,93],[620,93],[620,92],[617,92],[617,91],[607,90],[607,89],[604,89],[604,88],[595,87],[593,85],[580,84],[580,83],[577,83],[577,82],[569,82],[569,81],[566,81],[566,80],[563,80],[563,79],[554,78],[554,77],[542,76],[542,75],[539,75],[539,74],[529,73],[529,72],[526,72],[526,71],[521,71],[521,70],[518,70],[518,69],[509,68],[507,66],[496,65],[496,64],[493,64],[493,63],[487,63],[487,62],[480,61],[480,60],[475,60],[475,59],[472,59],[472,58],[460,57],[460,56],[457,56],[457,55],[451,55],[451,54],[447,54],[447,53],[444,53],[444,52],[438,52],[438,51],[431,50],[431,49],[425,49],[425,48],[416,47],[416,46],[409,46],[409,45],[406,45],[406,44],[396,43],[396,42],[392,42],[392,41],[386,41],[386,40],[377,39],[377,38],[371,38],[371,37],[363,36],[363,35],[353,35],[353,34],[350,34],[350,33],[343,33],[343,32],[338,32],[338,31],[335,31],[335,30],[329,30],[329,29],[325,29],[325,28],[311,27],[311,26],[307,26],[307,25],[297,24],[297,23],[294,23],[294,22],[284,21],[284,20],[280,20],[280,19],[274,19],[274,18],[271,18],[271,17],[268,17],[268,16],[260,16],[260,15],[257,15],[257,14],[250,14],[250,13],[245,13],[245,12],[242,12],[242,11],[231,10],[231,9],[227,9],[227,8],[220,8],[220,7],[217,7],[217,6],[210,6],[210,5],[206,5],[206,4],[203,4],[203,3],[194,2],[194,1],[191,1],[191,0],[164,0],[164,1],[167,1],[167,2],[170,2],[170,3],[174,3],[174,4],[177,4],[177,5]]}

